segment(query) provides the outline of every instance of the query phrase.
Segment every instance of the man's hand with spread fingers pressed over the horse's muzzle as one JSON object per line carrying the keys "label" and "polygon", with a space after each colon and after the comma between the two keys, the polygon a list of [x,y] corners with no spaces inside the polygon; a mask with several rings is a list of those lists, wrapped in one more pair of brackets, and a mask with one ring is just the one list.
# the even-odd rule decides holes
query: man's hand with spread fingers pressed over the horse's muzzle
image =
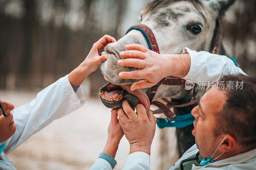
{"label": "man's hand with spread fingers pressed over the horse's muzzle", "polygon": [[160,55],[139,44],[128,44],[125,48],[134,51],[120,52],[120,57],[129,59],[121,59],[117,63],[121,66],[136,67],[139,70],[120,72],[119,77],[124,79],[144,79],[133,83],[131,86],[132,91],[152,87],[163,78],[169,76],[172,63],[168,55]]}

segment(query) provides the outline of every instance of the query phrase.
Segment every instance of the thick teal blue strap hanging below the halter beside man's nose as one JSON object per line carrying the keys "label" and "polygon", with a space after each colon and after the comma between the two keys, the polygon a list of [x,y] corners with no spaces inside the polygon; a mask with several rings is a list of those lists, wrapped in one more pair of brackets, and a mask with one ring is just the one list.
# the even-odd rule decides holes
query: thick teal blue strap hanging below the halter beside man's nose
{"label": "thick teal blue strap hanging below the halter beside man's nose", "polygon": [[167,118],[160,118],[157,122],[157,126],[160,129],[165,127],[176,127],[176,128],[184,128],[188,125],[193,124],[195,117],[188,113],[186,115],[180,115],[174,117],[172,120],[168,120]]}

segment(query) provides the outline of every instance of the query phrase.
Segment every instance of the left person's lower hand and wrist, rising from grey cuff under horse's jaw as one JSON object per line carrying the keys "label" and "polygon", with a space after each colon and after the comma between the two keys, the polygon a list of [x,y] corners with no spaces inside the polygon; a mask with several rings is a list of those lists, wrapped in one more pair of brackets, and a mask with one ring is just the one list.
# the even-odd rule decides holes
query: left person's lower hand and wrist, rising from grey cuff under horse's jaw
{"label": "left person's lower hand and wrist, rising from grey cuff under horse's jaw", "polygon": [[117,109],[113,109],[111,110],[111,120],[108,125],[108,140],[103,152],[115,158],[118,144],[123,136],[123,129],[117,119]]}

